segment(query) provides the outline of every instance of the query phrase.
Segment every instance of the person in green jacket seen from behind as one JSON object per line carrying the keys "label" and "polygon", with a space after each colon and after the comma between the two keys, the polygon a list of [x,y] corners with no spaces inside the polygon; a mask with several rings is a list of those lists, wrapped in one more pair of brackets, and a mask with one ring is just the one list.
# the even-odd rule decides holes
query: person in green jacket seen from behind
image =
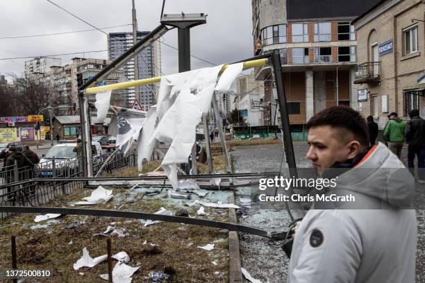
{"label": "person in green jacket seen from behind", "polygon": [[390,121],[385,126],[384,137],[388,142],[388,149],[400,158],[404,143],[404,128],[406,123],[399,118],[396,112],[390,114]]}

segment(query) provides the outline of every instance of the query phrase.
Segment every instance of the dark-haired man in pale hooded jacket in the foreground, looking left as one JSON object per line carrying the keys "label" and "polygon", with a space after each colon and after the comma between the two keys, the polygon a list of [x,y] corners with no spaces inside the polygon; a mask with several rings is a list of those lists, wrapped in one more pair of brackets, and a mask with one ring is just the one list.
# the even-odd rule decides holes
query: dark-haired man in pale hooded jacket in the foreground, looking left
{"label": "dark-haired man in pale hooded jacket in the foreground, looking left", "polygon": [[354,202],[314,203],[294,236],[290,283],[413,283],[415,180],[396,155],[368,148],[367,123],[351,108],[328,108],[307,124],[306,157],[337,185],[321,194]]}

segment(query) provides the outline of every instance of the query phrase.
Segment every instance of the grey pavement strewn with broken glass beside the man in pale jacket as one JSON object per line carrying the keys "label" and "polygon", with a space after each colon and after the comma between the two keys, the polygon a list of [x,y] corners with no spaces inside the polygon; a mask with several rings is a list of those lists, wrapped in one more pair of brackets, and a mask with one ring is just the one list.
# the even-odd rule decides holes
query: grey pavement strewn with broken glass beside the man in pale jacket
{"label": "grey pavement strewn with broken glass beside the man in pale jacket", "polygon": [[[294,153],[298,168],[310,167],[310,162],[305,156],[308,151],[306,142],[295,142]],[[281,144],[242,146],[234,147],[233,167],[236,173],[242,172],[265,172],[279,171],[282,168],[285,173],[285,160],[283,158],[283,146]],[[407,147],[401,152],[401,160],[407,164]],[[281,162],[283,164],[281,165]],[[258,186],[257,186],[258,188]],[[240,198],[251,198],[253,188],[239,188],[236,191],[236,203],[240,205]],[[416,186],[417,196],[415,198],[415,209],[418,223],[417,243],[417,278],[416,282],[425,282],[425,185]],[[239,218],[243,225],[273,231],[288,227],[291,222],[285,205],[274,205],[274,207],[248,207],[249,216]],[[290,207],[294,209],[294,207]],[[302,212],[293,212],[293,217],[302,216]],[[247,269],[251,276],[265,282],[286,282],[288,273],[288,257],[278,246],[280,242],[241,234],[240,252],[242,267]],[[247,281],[245,281],[247,282]]]}

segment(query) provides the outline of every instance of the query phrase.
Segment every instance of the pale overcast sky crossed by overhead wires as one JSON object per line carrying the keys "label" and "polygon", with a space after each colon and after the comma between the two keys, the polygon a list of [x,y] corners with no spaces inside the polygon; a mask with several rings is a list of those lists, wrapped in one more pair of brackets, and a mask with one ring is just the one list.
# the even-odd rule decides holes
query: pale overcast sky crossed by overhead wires
{"label": "pale overcast sky crossed by overhead wires", "polygon": [[[131,24],[131,0],[51,0],[98,28]],[[160,24],[161,0],[135,0],[139,31],[151,31]],[[0,37],[61,33],[91,29],[46,0],[0,1]],[[251,1],[249,0],[167,0],[165,13],[204,12],[207,24],[191,30],[191,53],[209,62],[221,64],[252,56]],[[131,26],[110,28],[108,32],[131,31]],[[169,31],[163,40],[177,46],[177,31]],[[44,37],[0,40],[0,58],[53,55],[81,51],[106,50],[106,35],[100,31],[69,33]],[[73,57],[57,56],[66,65]],[[85,58],[108,58],[107,52],[85,53]],[[0,60],[0,74],[22,74],[29,59]],[[178,71],[178,53],[161,44],[163,73]],[[210,67],[192,58],[192,69]]]}

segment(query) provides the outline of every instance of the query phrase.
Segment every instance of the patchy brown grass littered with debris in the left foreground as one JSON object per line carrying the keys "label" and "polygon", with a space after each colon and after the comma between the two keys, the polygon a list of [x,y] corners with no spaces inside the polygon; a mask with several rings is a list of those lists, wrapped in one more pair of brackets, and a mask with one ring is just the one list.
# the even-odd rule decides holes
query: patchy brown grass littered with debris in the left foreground
{"label": "patchy brown grass littered with debris in the left foreground", "polygon": [[[67,201],[81,200],[90,191],[77,189],[74,194],[59,196],[47,206],[63,206]],[[160,207],[176,211],[166,199],[136,199],[126,201],[126,189],[114,189],[115,198],[109,203],[97,205],[96,209],[117,209],[136,212],[156,212]],[[122,205],[122,207],[121,207]],[[187,208],[195,216],[197,207]],[[210,216],[197,216],[215,221],[228,221],[226,209],[206,208]],[[227,282],[228,241],[226,234],[215,228],[181,223],[158,223],[143,227],[133,219],[106,218],[97,216],[63,216],[60,223],[48,228],[31,230],[35,214],[11,216],[0,223],[0,268],[10,266],[10,236],[17,236],[17,263],[19,268],[48,268],[53,277],[39,282],[105,282],[100,274],[108,273],[106,261],[93,268],[74,271],[73,264],[82,256],[86,247],[91,257],[106,255],[106,237],[94,237],[103,232],[111,222],[118,228],[125,228],[128,237],[113,237],[113,254],[126,251],[131,259],[130,266],[140,266],[133,275],[133,282],[151,282],[150,271],[167,271],[171,277],[167,282]],[[67,229],[70,223],[83,225]],[[43,222],[40,224],[44,224]],[[68,244],[72,241],[72,244]],[[147,245],[143,242],[147,241]],[[150,243],[156,244],[152,248]],[[215,243],[215,249],[202,250],[197,246]],[[217,261],[217,266],[212,264]],[[113,266],[115,266],[113,260]],[[214,273],[218,271],[219,274]],[[80,275],[79,273],[84,273]],[[171,274],[174,273],[174,274]]]}

